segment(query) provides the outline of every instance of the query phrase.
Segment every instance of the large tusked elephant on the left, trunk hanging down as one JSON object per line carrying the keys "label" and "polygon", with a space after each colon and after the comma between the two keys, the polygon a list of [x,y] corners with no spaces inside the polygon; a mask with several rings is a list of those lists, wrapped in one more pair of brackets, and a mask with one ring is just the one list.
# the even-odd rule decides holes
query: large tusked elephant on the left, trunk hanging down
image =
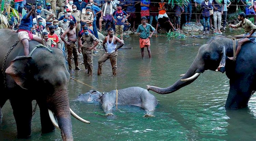
{"label": "large tusked elephant on the left, trunk hanging down", "polygon": [[[1,29],[0,35],[3,37],[0,39],[0,120],[4,117],[1,108],[9,99],[18,138],[30,137],[33,109],[31,102],[36,100],[40,108],[42,133],[51,132],[56,126],[61,130],[64,141],[72,141],[71,114],[85,123],[89,122],[78,117],[69,108],[67,84],[70,74],[62,51],[42,46],[37,48],[38,42],[29,41],[29,56],[24,56],[22,42],[7,53],[17,41],[18,34]],[[6,53],[8,57],[4,59]]]}

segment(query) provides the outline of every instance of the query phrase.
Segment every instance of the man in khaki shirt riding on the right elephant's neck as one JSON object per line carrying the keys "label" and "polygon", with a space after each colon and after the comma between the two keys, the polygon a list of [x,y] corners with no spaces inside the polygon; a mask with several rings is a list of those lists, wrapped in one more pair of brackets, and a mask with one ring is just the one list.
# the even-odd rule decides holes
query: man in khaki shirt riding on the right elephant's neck
{"label": "man in khaki shirt riding on the right elephant's neck", "polygon": [[[256,25],[254,25],[250,20],[245,18],[244,12],[240,12],[238,14],[238,20],[240,22],[236,25],[229,24],[229,27],[235,28],[235,29],[242,27],[244,29],[244,31],[246,32],[245,34],[237,35],[237,36],[244,36],[244,38],[238,42],[236,56],[238,55],[239,51],[241,50],[241,46],[243,45],[243,43],[248,42],[248,41],[251,41],[253,43],[256,42],[256,38],[255,38]],[[253,37],[251,37],[251,36],[253,36]],[[236,37],[236,38],[242,38],[242,37]],[[234,57],[228,57],[228,58],[230,60],[234,59]]]}

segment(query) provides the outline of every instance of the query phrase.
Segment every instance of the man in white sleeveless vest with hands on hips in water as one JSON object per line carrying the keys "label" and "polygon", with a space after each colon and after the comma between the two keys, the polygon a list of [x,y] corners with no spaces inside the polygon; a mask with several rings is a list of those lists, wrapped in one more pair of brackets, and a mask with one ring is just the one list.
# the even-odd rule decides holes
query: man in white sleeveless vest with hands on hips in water
{"label": "man in white sleeveless vest with hands on hips in water", "polygon": [[[113,75],[116,75],[117,72],[117,50],[124,46],[124,42],[120,40],[118,37],[114,36],[114,30],[109,28],[108,35],[103,41],[103,48],[105,50],[105,54],[103,54],[98,60],[98,75],[102,75],[102,66],[106,60],[110,59],[110,63],[112,66]],[[120,43],[119,47],[116,48],[117,42]],[[107,49],[105,47],[105,43],[107,43]]]}

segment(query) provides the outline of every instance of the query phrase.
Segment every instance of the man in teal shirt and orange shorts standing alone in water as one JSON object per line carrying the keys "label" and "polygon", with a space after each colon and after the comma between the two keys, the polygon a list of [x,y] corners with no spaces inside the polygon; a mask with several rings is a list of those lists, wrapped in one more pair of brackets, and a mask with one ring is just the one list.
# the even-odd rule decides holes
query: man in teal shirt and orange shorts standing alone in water
{"label": "man in teal shirt and orange shorts standing alone in water", "polygon": [[[147,18],[145,16],[141,17],[142,24],[139,25],[137,29],[137,35],[140,36],[140,49],[141,49],[141,56],[144,59],[144,48],[147,48],[148,56],[151,58],[151,51],[150,51],[150,38],[155,32],[155,28],[152,25],[146,23]],[[152,33],[150,34],[150,31]]]}

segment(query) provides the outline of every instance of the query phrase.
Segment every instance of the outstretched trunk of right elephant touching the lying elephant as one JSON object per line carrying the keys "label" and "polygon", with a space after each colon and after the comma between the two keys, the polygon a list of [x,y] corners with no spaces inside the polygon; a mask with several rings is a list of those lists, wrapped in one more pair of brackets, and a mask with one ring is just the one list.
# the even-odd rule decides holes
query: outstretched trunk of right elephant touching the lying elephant
{"label": "outstretched trunk of right elephant touching the lying elephant", "polygon": [[179,90],[180,88],[194,82],[196,78],[200,75],[200,73],[203,72],[203,65],[200,65],[202,63],[200,63],[201,61],[197,58],[194,60],[194,62],[192,63],[192,65],[190,66],[186,74],[184,74],[180,78],[180,80],[175,82],[173,85],[167,88],[159,88],[156,86],[147,85],[147,90],[152,90],[159,94],[168,94],[168,93],[175,92],[176,90]]}

